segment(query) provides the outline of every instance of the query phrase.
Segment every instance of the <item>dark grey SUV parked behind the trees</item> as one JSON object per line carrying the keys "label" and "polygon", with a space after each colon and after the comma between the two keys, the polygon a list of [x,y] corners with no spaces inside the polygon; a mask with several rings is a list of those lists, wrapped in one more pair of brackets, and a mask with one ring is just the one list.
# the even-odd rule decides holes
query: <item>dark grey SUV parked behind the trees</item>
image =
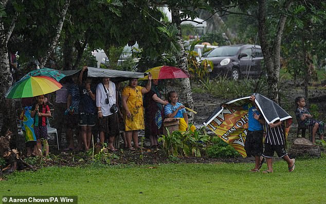
{"label": "dark grey SUV parked behind the trees", "polygon": [[263,53],[259,45],[221,46],[204,53],[201,60],[214,64],[210,78],[227,75],[234,80],[241,77],[258,77],[262,71]]}

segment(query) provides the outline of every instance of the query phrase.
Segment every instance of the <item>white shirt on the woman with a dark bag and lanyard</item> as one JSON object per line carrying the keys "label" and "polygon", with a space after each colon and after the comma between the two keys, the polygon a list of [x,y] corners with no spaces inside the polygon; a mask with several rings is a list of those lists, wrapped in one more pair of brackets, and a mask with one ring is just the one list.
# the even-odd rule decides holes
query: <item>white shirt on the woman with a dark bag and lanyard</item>
{"label": "white shirt on the woman with a dark bag and lanyard", "polygon": [[[105,88],[106,89],[106,88]],[[116,100],[116,85],[112,82],[108,82],[108,90],[105,93],[102,83],[99,83],[96,87],[96,107],[101,107],[102,115],[112,115],[110,108],[113,104],[117,103]],[[105,99],[108,97],[108,104],[105,103]]]}

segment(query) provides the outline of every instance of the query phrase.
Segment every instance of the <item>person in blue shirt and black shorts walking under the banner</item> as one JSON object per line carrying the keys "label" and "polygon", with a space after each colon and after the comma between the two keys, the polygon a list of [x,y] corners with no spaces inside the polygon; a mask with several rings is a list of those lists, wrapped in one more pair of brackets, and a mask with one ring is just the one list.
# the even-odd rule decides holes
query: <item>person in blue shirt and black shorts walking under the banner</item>
{"label": "person in blue shirt and black shorts walking under the banner", "polygon": [[255,168],[251,169],[250,172],[259,172],[260,168],[264,162],[263,154],[263,125],[254,117],[255,115],[261,115],[255,103],[255,96],[251,95],[249,100],[250,103],[244,106],[229,106],[223,104],[225,108],[231,108],[234,110],[246,110],[248,111],[248,133],[246,136],[246,141],[244,149],[246,150],[247,157],[255,157]]}

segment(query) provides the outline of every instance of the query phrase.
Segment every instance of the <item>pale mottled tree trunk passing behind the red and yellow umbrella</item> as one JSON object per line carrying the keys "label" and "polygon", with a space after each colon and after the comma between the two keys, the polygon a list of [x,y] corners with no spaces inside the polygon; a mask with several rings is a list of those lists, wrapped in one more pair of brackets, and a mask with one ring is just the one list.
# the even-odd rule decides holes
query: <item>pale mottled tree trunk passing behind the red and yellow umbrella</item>
{"label": "pale mottled tree trunk passing behind the red and yellow umbrella", "polygon": [[[180,45],[180,52],[177,54],[177,62],[179,65],[180,69],[185,70],[188,73],[188,62],[187,62],[187,55],[185,52],[185,47],[184,47],[184,40],[181,34],[181,28],[180,28],[180,9],[178,8],[172,8],[171,9],[171,17],[172,17],[172,23],[176,25],[176,28],[178,29],[178,34],[177,34],[177,43]],[[180,93],[180,97],[185,99],[184,105],[186,107],[189,107],[190,109],[193,109],[193,99],[192,99],[192,92],[191,92],[191,85],[190,85],[190,79],[185,78],[182,79],[181,81],[181,88],[182,92]],[[193,123],[193,113],[188,112],[189,115],[189,122]]]}

